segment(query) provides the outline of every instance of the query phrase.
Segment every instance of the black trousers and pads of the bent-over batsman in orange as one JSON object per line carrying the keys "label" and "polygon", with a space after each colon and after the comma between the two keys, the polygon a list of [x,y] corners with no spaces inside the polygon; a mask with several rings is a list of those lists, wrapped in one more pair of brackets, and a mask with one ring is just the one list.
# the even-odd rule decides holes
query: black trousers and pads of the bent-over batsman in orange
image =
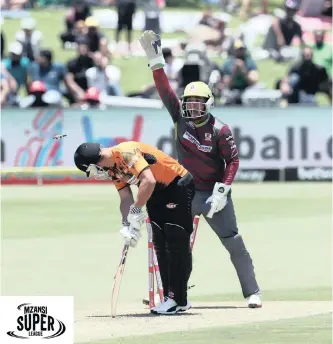
{"label": "black trousers and pads of the bent-over batsman in orange", "polygon": [[194,193],[192,175],[187,174],[164,189],[157,187],[147,202],[164,296],[173,298],[180,306],[187,304],[187,284],[192,272]]}

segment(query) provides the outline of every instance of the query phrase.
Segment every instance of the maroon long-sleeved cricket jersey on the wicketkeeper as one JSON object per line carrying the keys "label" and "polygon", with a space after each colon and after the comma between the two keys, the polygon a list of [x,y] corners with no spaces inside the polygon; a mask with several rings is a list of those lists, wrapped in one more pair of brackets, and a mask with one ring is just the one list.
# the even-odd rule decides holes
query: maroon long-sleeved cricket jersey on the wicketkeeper
{"label": "maroon long-sleeved cricket jersey on the wicketkeeper", "polygon": [[153,72],[157,91],[176,128],[179,162],[192,173],[196,189],[209,190],[216,182],[230,185],[237,173],[238,150],[230,128],[209,114],[200,125],[182,117],[181,103],[163,68]]}

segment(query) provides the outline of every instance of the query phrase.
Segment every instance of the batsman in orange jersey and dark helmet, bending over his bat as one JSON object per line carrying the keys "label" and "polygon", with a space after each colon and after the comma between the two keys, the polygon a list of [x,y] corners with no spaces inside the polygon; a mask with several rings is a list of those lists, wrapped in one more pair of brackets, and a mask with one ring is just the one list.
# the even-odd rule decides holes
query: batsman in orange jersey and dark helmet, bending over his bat
{"label": "batsman in orange jersey and dark helmet, bending over his bat", "polygon": [[[120,233],[132,247],[140,239],[140,228],[147,218],[143,211],[146,206],[165,297],[151,312],[172,315],[190,309],[187,284],[192,271],[191,205],[195,192],[191,173],[157,148],[139,142],[110,148],[83,143],[77,148],[74,161],[87,177],[114,181],[120,196]],[[135,201],[131,185],[139,187]]]}

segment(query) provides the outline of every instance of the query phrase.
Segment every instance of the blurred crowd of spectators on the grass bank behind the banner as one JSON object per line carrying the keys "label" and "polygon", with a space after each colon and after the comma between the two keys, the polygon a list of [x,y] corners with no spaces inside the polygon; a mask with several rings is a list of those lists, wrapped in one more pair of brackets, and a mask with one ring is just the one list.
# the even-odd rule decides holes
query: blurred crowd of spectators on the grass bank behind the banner
{"label": "blurred crowd of spectators on the grass bank behind the banner", "polygon": [[[133,16],[138,6],[134,0],[109,0],[118,11],[116,43],[123,29],[127,30],[128,53],[132,41]],[[150,3],[151,7],[147,7]],[[223,4],[225,5],[225,1]],[[247,9],[250,2],[247,1]],[[160,32],[159,12],[164,2],[145,2],[145,29]],[[325,15],[332,16],[332,2],[325,7]],[[286,0],[284,15],[276,17],[263,41],[262,48],[269,59],[276,63],[286,60],[285,48],[292,45],[295,37],[300,41],[300,58],[291,63],[285,76],[276,81],[279,91],[288,103],[314,103],[322,92],[332,100],[332,47],[325,40],[325,30],[312,32],[313,44],[303,41],[303,32],[295,15],[300,0]],[[263,12],[267,1],[263,1]],[[150,11],[150,12],[149,12]],[[224,22],[214,18],[210,10],[203,13],[199,24],[220,32],[214,39],[183,44],[183,56],[174,57],[172,49],[164,47],[165,71],[174,90],[180,95],[184,86],[194,80],[209,83],[214,94],[226,105],[242,104],[245,91],[252,94],[263,92],[260,70],[246,46],[242,34],[229,39],[228,46],[222,43]],[[47,105],[84,106],[98,105],[101,94],[107,96],[130,96],[154,98],[154,85],[145,85],[138,92],[124,94],[121,87],[121,70],[112,64],[113,54],[109,39],[102,33],[90,6],[84,0],[76,0],[64,19],[64,31],[60,35],[62,49],[75,49],[76,56],[65,64],[58,63],[54,52],[44,48],[43,32],[32,17],[21,20],[21,29],[15,40],[6,42],[1,32],[1,105],[38,107]],[[207,54],[207,45],[224,47],[226,59],[218,65]],[[256,93],[257,92],[257,93]],[[250,92],[251,93],[251,92]],[[249,94],[250,94],[249,93]]]}

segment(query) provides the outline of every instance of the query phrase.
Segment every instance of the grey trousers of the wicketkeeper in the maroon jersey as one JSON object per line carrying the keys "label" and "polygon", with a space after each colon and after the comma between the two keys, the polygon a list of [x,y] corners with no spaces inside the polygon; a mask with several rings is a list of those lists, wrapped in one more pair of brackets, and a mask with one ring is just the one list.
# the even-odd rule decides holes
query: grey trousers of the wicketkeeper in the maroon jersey
{"label": "grey trousers of the wicketkeeper in the maroon jersey", "polygon": [[247,251],[242,236],[238,233],[237,220],[231,195],[228,195],[228,203],[210,219],[206,215],[210,204],[206,204],[211,192],[196,190],[192,203],[193,216],[203,215],[209,226],[220,238],[224,247],[230,254],[230,259],[236,269],[239,282],[245,298],[259,292],[254,266],[251,256]]}

